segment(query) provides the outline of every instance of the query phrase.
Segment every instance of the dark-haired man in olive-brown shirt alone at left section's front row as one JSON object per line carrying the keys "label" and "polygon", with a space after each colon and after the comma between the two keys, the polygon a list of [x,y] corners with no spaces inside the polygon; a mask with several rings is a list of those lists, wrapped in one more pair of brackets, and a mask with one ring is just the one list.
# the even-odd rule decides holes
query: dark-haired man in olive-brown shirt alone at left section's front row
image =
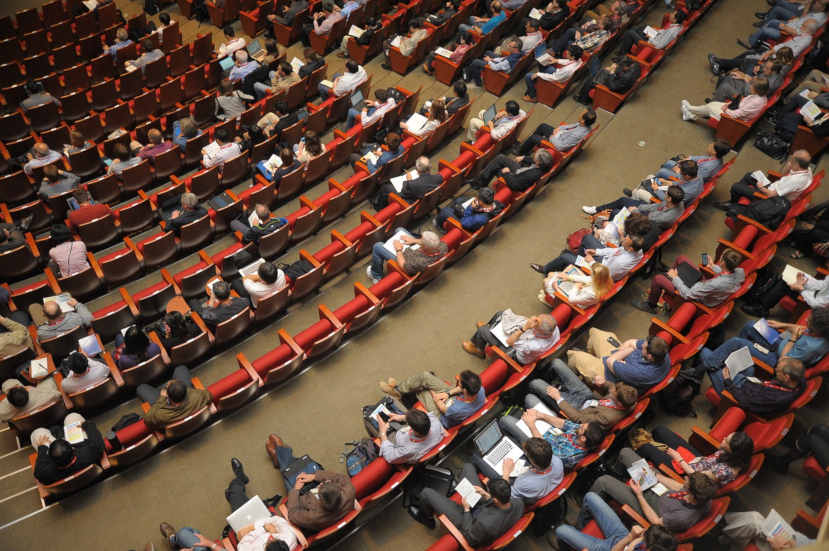
{"label": "dark-haired man in olive-brown shirt alone at left section's front row", "polygon": [[150,404],[144,414],[144,423],[151,430],[161,430],[209,405],[213,398],[208,390],[193,388],[190,370],[180,365],[173,370],[173,378],[161,387],[146,383],[138,385],[135,394]]}

